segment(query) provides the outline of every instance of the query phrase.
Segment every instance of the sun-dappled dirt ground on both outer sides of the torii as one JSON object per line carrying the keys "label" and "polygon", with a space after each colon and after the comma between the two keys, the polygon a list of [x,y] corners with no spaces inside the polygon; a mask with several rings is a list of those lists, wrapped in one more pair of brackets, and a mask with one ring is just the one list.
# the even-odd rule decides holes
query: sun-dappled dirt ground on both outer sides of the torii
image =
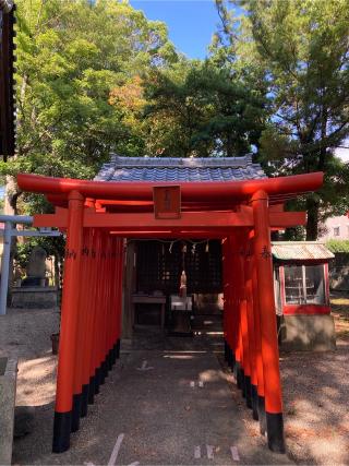
{"label": "sun-dappled dirt ground on both outer sides of the torii", "polygon": [[[333,296],[332,304],[337,332],[336,351],[280,355],[288,458],[296,464],[349,464],[348,294]],[[20,358],[16,404],[36,406],[37,420],[51,419],[57,361],[51,355],[49,336],[58,330],[58,318],[57,310],[12,310],[0,318],[0,356]],[[226,380],[253,443],[262,445],[265,441],[261,439],[258,426],[251,419],[251,411],[245,408],[232,375],[226,374]],[[35,422],[35,429],[40,428],[40,423]],[[49,432],[43,432],[43,437],[51,435],[50,428],[49,425]],[[23,452],[24,443],[32,443],[35,449],[32,435],[34,439],[37,432],[14,442],[14,464],[27,464],[19,453]],[[57,461],[52,463],[57,464]],[[195,464],[200,462],[195,461]]]}

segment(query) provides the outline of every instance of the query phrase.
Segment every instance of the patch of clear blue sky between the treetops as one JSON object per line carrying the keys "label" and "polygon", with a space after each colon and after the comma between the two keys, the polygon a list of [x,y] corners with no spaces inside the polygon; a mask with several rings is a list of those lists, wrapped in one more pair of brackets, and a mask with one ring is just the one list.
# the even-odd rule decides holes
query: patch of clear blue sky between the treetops
{"label": "patch of clear blue sky between the treetops", "polygon": [[189,58],[205,58],[219,24],[214,0],[130,0],[148,20],[167,24],[169,37]]}

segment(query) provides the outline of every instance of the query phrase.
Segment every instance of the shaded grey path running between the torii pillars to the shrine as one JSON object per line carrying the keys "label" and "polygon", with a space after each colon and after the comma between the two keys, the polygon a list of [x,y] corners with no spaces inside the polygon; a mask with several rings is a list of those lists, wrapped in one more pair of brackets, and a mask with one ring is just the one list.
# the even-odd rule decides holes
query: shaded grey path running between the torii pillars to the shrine
{"label": "shaded grey path running between the torii pillars to the shrine", "polygon": [[117,465],[234,465],[232,446],[241,465],[293,464],[248,434],[217,358],[205,350],[123,353],[68,452],[51,454],[48,416],[40,411],[41,431],[16,443],[16,464],[106,465],[121,435]]}

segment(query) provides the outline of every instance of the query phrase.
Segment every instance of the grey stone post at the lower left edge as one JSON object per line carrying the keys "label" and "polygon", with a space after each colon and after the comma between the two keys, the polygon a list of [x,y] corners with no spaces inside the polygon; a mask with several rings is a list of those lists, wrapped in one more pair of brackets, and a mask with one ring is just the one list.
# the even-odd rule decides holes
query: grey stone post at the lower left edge
{"label": "grey stone post at the lower left edge", "polygon": [[0,358],[0,465],[11,465],[17,361]]}

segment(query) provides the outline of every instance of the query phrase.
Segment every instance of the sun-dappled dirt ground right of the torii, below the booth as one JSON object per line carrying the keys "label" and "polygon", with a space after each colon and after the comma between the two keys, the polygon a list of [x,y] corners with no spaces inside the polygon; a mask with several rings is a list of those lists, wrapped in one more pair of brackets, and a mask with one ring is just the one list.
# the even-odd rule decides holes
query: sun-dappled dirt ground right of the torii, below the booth
{"label": "sun-dappled dirt ground right of the torii, below the booth", "polygon": [[[280,355],[285,433],[296,464],[349,465],[349,294],[332,295],[337,350]],[[243,407],[252,435],[257,426]]]}

